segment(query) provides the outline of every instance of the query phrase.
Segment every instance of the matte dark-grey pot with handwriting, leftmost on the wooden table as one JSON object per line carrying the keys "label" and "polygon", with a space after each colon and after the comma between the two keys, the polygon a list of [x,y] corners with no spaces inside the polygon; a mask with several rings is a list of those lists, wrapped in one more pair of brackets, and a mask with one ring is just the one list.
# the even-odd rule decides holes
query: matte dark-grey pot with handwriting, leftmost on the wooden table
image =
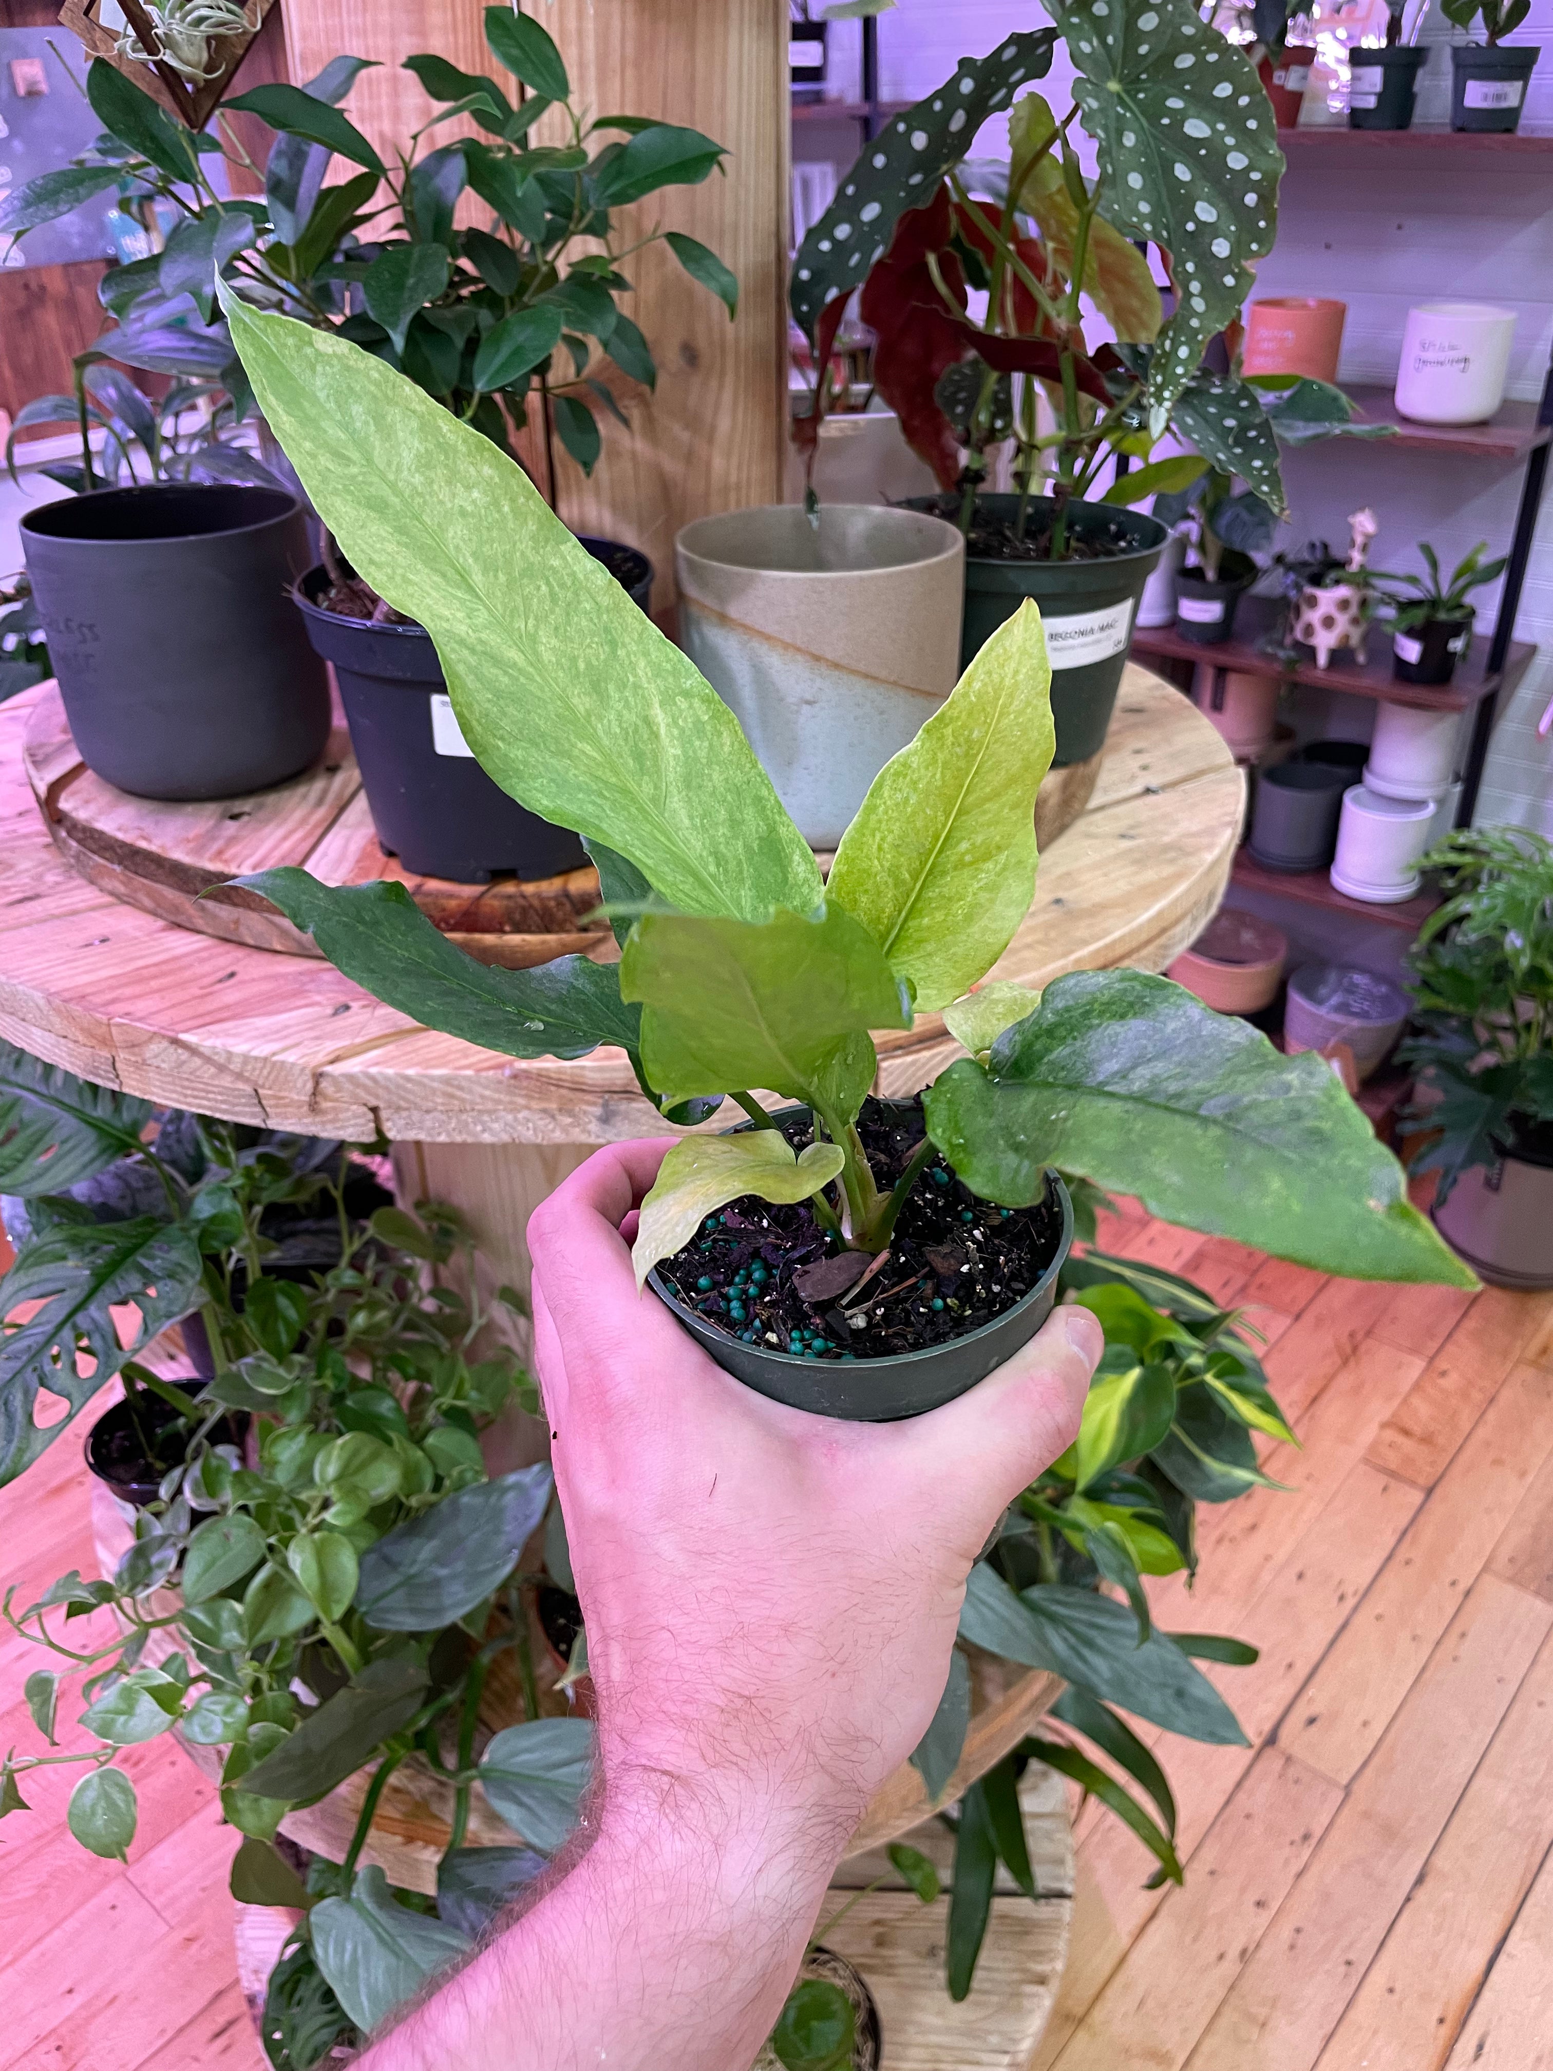
{"label": "matte dark-grey pot with handwriting, leftmost on the wooden table", "polygon": [[87,768],[137,797],[236,797],[309,768],[329,679],[288,592],[313,555],[284,489],[149,483],[21,520]]}

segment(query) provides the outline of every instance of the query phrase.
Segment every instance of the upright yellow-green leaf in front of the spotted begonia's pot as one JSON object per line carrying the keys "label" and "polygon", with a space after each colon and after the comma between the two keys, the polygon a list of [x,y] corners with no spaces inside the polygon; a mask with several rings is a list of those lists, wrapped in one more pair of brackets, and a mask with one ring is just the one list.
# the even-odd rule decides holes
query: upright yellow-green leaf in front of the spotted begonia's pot
{"label": "upright yellow-green leaf in front of the spotted begonia's pot", "polygon": [[984,978],[1029,913],[1052,746],[1052,665],[1025,601],[841,837],[826,897],[868,928],[924,1011]]}

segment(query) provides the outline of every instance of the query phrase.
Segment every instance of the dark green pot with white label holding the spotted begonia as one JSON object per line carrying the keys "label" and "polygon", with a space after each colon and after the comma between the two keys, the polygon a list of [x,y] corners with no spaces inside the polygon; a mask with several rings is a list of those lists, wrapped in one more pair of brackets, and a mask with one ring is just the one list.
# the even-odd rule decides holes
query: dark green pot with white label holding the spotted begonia
{"label": "dark green pot with white label holding the spotted begonia", "polygon": [[[1015,522],[1017,495],[977,497],[977,509]],[[959,497],[909,497],[909,509],[936,518],[959,518]],[[1027,530],[1044,532],[1052,522],[1050,497],[1031,497]],[[1068,538],[1077,545],[1106,541],[1118,551],[1073,561],[1000,561],[965,557],[965,621],[961,667],[981,644],[1033,596],[1046,625],[1052,659],[1052,721],[1056,754],[1052,764],[1087,762],[1106,746],[1106,729],[1133,642],[1143,584],[1153,574],[1170,532],[1145,512],[1110,503],[1068,503]]]}

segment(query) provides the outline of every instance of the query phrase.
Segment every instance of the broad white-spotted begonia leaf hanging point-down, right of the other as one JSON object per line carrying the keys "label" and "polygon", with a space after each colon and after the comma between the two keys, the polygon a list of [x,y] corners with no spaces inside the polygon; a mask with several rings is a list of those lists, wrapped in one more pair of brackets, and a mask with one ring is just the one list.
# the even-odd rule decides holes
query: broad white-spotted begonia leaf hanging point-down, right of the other
{"label": "broad white-spotted begonia leaf hanging point-down, right of the other", "polygon": [[1075,66],[1073,97],[1100,145],[1102,209],[1170,253],[1176,313],[1149,369],[1149,429],[1253,286],[1247,261],[1278,234],[1284,157],[1251,58],[1193,0],[1052,0]]}

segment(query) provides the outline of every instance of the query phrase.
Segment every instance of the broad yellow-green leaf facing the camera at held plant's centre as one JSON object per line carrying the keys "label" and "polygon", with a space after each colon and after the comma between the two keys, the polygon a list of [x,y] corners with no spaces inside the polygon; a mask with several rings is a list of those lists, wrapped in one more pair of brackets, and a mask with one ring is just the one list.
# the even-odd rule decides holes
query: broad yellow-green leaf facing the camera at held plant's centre
{"label": "broad yellow-green leaf facing the camera at held plant's centre", "polygon": [[847,1122],[874,1081],[868,1031],[911,1027],[884,951],[837,905],[764,924],[646,913],[619,984],[665,1100],[764,1087]]}

